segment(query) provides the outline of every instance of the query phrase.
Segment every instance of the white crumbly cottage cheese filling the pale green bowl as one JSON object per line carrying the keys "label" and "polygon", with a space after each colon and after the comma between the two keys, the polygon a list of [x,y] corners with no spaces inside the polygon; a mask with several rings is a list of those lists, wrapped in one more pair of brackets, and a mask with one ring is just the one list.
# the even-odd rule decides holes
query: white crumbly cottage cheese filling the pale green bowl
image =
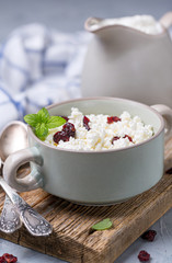
{"label": "white crumbly cottage cheese filling the pale green bowl", "polygon": [[[153,127],[151,125],[145,125],[140,117],[131,117],[128,112],[123,112],[119,116],[121,121],[112,124],[107,123],[108,115],[87,115],[90,119],[90,130],[83,126],[83,113],[77,107],[72,107],[68,122],[72,123],[76,127],[74,138],[70,137],[69,141],[60,140],[58,145],[55,144],[53,136],[55,133],[62,129],[62,126],[60,126],[58,128],[49,129],[45,142],[58,148],[96,151],[133,146],[153,136]],[[131,141],[128,137],[125,137],[125,135],[129,136]],[[115,136],[119,137],[119,139],[112,142]]]}

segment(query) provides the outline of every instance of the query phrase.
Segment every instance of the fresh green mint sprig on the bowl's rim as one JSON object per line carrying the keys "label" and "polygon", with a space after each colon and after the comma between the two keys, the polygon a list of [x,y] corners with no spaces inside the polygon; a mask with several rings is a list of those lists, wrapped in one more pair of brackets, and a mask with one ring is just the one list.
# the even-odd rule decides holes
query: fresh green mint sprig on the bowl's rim
{"label": "fresh green mint sprig on the bowl's rim", "polygon": [[27,114],[24,121],[33,127],[35,135],[45,140],[48,135],[48,129],[56,128],[66,123],[66,119],[60,116],[50,116],[48,111],[43,107],[37,114]]}

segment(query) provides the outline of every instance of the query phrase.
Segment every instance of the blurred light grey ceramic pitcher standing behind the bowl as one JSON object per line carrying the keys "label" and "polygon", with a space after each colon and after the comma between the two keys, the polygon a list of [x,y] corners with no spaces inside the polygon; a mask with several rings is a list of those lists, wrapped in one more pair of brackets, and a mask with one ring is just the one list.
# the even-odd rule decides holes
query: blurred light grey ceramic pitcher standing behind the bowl
{"label": "blurred light grey ceramic pitcher standing behind the bowl", "polygon": [[168,28],[172,12],[159,21],[156,35],[90,18],[85,28],[94,33],[82,71],[83,96],[118,96],[151,105],[172,106],[172,41]]}

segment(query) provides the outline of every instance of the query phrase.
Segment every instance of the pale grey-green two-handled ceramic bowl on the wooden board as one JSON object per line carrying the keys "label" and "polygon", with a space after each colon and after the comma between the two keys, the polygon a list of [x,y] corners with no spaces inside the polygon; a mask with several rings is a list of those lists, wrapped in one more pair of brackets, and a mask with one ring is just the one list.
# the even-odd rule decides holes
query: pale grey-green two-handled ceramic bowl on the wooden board
{"label": "pale grey-green two-handled ceramic bowl on the wooden board", "polygon": [[[47,145],[28,127],[30,148],[11,155],[4,163],[4,178],[12,187],[16,191],[43,187],[73,203],[110,205],[138,195],[159,182],[163,174],[165,123],[165,136],[172,126],[171,108],[150,107],[124,99],[90,98],[53,104],[47,110],[50,115],[68,116],[73,106],[83,114],[118,116],[127,111],[133,116],[138,115],[145,124],[151,124],[154,135],[126,148],[83,151]],[[27,161],[31,161],[31,173],[18,179],[16,170]]]}

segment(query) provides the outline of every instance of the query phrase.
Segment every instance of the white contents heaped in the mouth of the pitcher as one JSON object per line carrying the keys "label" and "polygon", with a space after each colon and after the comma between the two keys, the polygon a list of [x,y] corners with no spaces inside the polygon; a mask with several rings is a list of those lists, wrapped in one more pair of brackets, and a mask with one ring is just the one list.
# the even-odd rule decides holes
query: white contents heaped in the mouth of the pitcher
{"label": "white contents heaped in the mouth of the pitcher", "polygon": [[162,26],[151,15],[134,15],[119,19],[107,19],[100,22],[101,25],[125,25],[139,30],[147,34],[159,34],[162,32]]}

